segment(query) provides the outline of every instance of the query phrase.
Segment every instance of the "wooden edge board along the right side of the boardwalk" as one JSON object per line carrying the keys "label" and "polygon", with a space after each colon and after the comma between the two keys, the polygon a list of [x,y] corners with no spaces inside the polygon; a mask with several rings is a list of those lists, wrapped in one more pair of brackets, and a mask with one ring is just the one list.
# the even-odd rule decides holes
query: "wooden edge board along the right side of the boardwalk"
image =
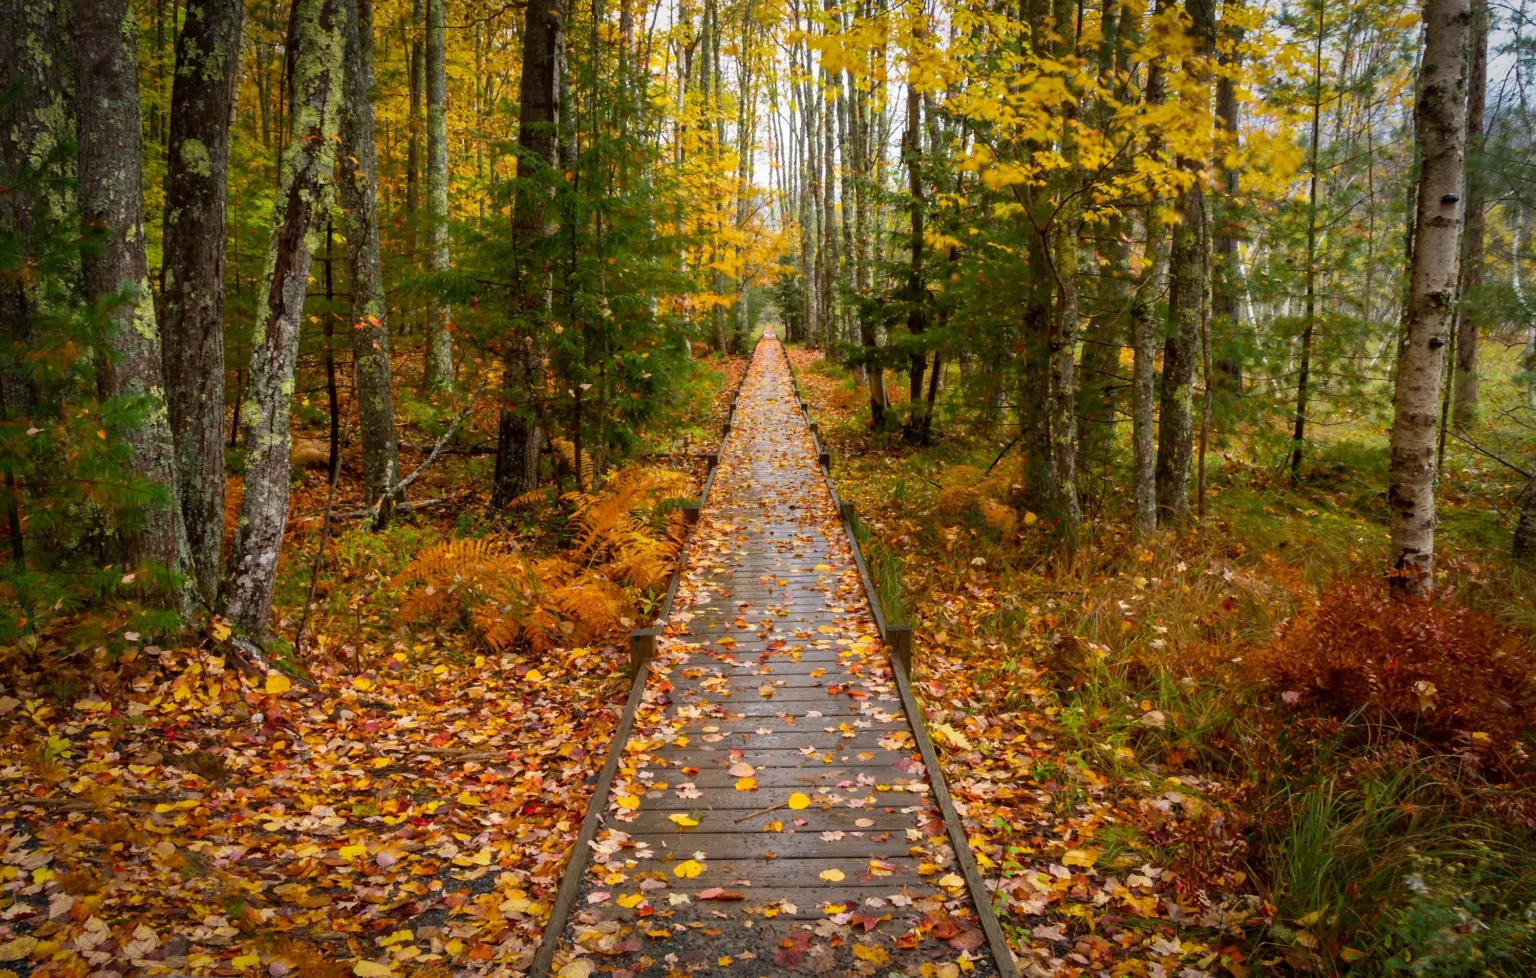
{"label": "wooden edge board along the right side of the boardwalk", "polygon": [[874,616],[876,628],[880,631],[880,640],[885,642],[895,659],[891,672],[895,676],[897,694],[902,697],[902,708],[911,719],[912,738],[917,742],[923,765],[928,768],[929,785],[934,789],[934,805],[938,808],[940,815],[943,815],[945,829],[955,852],[955,861],[960,863],[960,875],[965,878],[966,890],[971,894],[971,903],[975,906],[975,914],[982,924],[982,932],[986,935],[988,949],[992,952],[992,963],[1001,978],[1018,978],[1018,963],[1014,960],[1014,952],[1008,947],[1008,938],[1003,935],[1003,926],[997,921],[997,914],[992,910],[992,894],[982,880],[982,871],[977,867],[975,855],[971,852],[971,841],[965,834],[965,824],[960,821],[960,812],[955,811],[954,798],[949,797],[949,785],[945,781],[945,772],[938,766],[938,752],[928,737],[928,719],[912,696],[909,682],[912,671],[912,628],[911,625],[892,625],[885,617],[885,608],[880,606],[880,594],[876,591],[874,579],[869,576],[869,568],[863,559],[863,550],[859,547],[859,536],[854,531],[854,504],[845,504],[837,494],[837,487],[833,484],[833,456],[822,448],[820,425],[811,421],[809,404],[800,392],[800,378],[794,372],[794,361],[790,359],[790,347],[780,342],[779,352],[783,353],[783,362],[790,370],[790,382],[794,387],[800,413],[811,428],[811,442],[816,447],[817,461],[822,467],[822,479],[825,479],[826,490],[833,494],[833,505],[837,507],[837,513],[842,516],[843,533],[848,534],[848,545],[852,550],[859,577],[863,580],[865,594],[869,599],[869,611]]}

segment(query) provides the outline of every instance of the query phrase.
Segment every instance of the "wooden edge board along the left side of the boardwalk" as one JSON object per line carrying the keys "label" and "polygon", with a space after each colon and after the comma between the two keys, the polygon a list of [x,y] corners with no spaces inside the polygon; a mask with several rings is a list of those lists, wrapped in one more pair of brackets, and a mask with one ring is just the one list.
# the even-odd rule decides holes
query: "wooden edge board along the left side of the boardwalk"
{"label": "wooden edge board along the left side of the boardwalk", "polygon": [[[762,342],[762,338],[757,342]],[[624,745],[628,743],[630,732],[634,729],[634,712],[639,709],[641,700],[645,699],[645,666],[650,663],[651,656],[656,654],[656,637],[660,634],[662,623],[671,614],[677,586],[682,583],[684,571],[688,570],[688,544],[693,540],[693,527],[697,522],[697,514],[710,499],[710,488],[714,485],[714,476],[719,471],[725,439],[731,436],[736,401],[742,396],[742,385],[745,382],[746,372],[743,370],[740,379],[736,381],[736,390],[731,392],[731,405],[725,415],[727,421],[720,433],[720,445],[705,454],[710,471],[703,479],[703,487],[699,490],[699,501],[688,507],[691,510],[688,513],[688,539],[684,540],[682,550],[677,551],[677,567],[673,570],[671,582],[667,585],[667,597],[662,599],[662,603],[656,610],[656,625],[651,628],[636,628],[630,633],[630,697],[624,702],[624,712],[619,715],[619,725],[613,731],[613,746],[608,749],[608,760],[604,762],[598,783],[591,789],[591,798],[587,801],[587,814],[582,817],[581,831],[576,834],[576,843],[571,846],[565,872],[561,875],[554,904],[550,907],[550,920],[544,924],[544,933],[539,938],[539,950],[528,967],[528,975],[535,978],[548,978],[554,952],[561,944],[561,935],[565,933],[565,924],[570,923],[571,909],[576,906],[582,874],[587,872],[587,857],[591,852],[591,841],[598,838],[598,823],[602,818],[608,792],[613,788],[613,778],[619,774],[619,758],[624,755]]]}

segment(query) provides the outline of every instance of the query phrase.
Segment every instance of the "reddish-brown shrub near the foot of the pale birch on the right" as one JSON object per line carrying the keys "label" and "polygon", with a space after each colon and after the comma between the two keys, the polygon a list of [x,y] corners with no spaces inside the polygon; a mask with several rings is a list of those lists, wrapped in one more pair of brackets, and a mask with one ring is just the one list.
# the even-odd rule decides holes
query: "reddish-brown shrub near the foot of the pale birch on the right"
{"label": "reddish-brown shrub near the foot of the pale birch on the right", "polygon": [[1289,703],[1412,731],[1505,775],[1536,774],[1530,637],[1455,599],[1401,602],[1382,582],[1341,582],[1256,659]]}

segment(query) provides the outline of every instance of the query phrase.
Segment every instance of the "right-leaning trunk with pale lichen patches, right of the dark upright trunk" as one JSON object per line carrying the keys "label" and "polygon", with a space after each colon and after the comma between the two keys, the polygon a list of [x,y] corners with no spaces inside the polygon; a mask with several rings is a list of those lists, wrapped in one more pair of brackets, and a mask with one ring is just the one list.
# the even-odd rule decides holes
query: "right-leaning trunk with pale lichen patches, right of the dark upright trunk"
{"label": "right-leaning trunk with pale lichen patches, right of the dark upright trunk", "polygon": [[267,631],[287,524],[293,368],[313,241],[330,213],[343,88],[341,5],[347,2],[295,0],[289,15],[292,107],[267,246],[267,293],[257,310],[241,418],[246,487],[224,603],[224,614],[257,637]]}

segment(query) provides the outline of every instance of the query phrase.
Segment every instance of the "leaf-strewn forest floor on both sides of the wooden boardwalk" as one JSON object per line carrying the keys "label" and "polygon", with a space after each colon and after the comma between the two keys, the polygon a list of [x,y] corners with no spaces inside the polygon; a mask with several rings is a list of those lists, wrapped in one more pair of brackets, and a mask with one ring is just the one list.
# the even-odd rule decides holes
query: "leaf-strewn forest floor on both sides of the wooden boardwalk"
{"label": "leaf-strewn forest floor on both sides of the wooden boardwalk", "polygon": [[[1376,442],[1324,444],[1298,490],[1233,438],[1204,525],[1149,542],[1095,473],[1063,551],[1006,439],[943,399],[938,444],[872,434],[846,370],[791,356],[1029,973],[1533,973],[1536,580],[1478,530],[1488,471],[1447,471],[1442,597],[1404,610]],[[217,622],[157,645],[83,611],[0,649],[0,978],[525,967],[743,370],[700,372],[604,491],[508,517],[476,413],[415,494],[445,502],[338,530],[313,582],[304,468],[273,617],[292,636],[315,586],[313,686],[243,671]],[[410,421],[407,470],[442,427]],[[547,602],[501,614],[507,580]]]}

